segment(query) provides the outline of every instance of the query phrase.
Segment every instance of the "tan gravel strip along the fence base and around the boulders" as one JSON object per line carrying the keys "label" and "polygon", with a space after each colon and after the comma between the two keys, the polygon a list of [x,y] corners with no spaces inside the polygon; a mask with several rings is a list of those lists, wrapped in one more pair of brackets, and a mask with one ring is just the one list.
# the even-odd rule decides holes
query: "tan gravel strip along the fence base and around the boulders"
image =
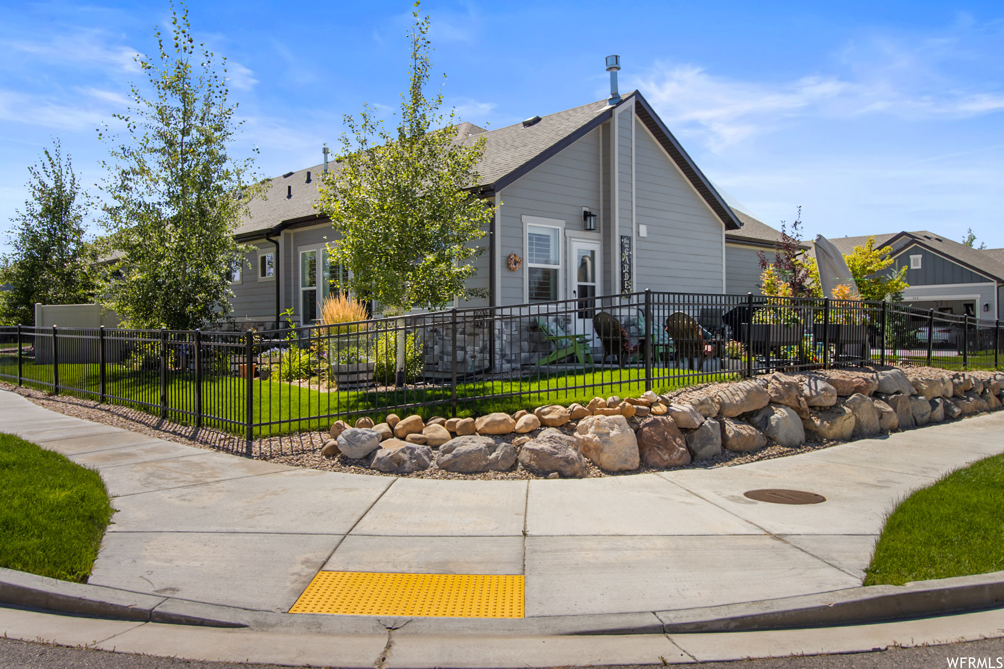
{"label": "tan gravel strip along the fence base and around the boulders", "polygon": [[[922,375],[926,372],[935,374],[951,374],[953,372],[935,367],[914,367],[911,365],[896,365],[902,367],[908,374]],[[828,375],[841,372],[865,372],[874,373],[886,367],[860,367],[843,368],[840,370],[813,370],[811,372],[790,372],[789,375],[804,378],[809,374]],[[980,378],[988,378],[994,372],[975,371],[970,372]],[[720,387],[725,387],[729,383],[703,383],[680,388],[667,393],[669,399],[674,401],[685,401],[693,396],[707,394]],[[290,466],[306,467],[310,469],[322,469],[325,471],[341,471],[345,473],[365,474],[369,476],[405,476],[411,478],[451,478],[466,480],[523,480],[529,478],[540,478],[535,474],[520,467],[517,462],[513,469],[508,471],[488,471],[484,473],[466,474],[452,471],[444,471],[438,468],[430,468],[425,471],[416,471],[407,474],[384,473],[366,466],[365,460],[355,460],[338,454],[335,457],[324,457],[320,454],[320,448],[329,438],[327,432],[309,431],[284,434],[279,436],[264,437],[252,443],[251,451],[247,452],[244,439],[225,432],[223,430],[210,427],[196,428],[192,425],[183,425],[171,420],[165,420],[159,416],[126,406],[112,404],[98,404],[93,400],[71,397],[68,395],[53,396],[40,390],[17,387],[9,383],[0,382],[0,387],[16,392],[27,398],[29,401],[38,404],[46,409],[56,411],[65,415],[90,420],[92,422],[103,423],[121,427],[134,432],[147,434],[156,438],[167,439],[184,443],[186,445],[208,450],[217,450],[228,453],[249,455],[256,459],[279,462]],[[559,429],[567,434],[574,432],[575,421],[571,421]],[[528,433],[528,436],[536,436],[541,429]],[[512,442],[519,438],[520,434],[506,434],[500,437],[503,440]],[[592,462],[588,462],[590,478],[600,476],[622,476],[639,473],[655,473],[659,471],[674,471],[677,469],[712,469],[721,466],[732,466],[736,464],[746,464],[759,460],[769,460],[777,457],[787,457],[799,453],[811,452],[821,448],[843,443],[840,441],[810,442],[795,448],[788,448],[778,444],[768,445],[755,452],[737,453],[730,450],[723,450],[722,454],[700,461],[692,461],[690,464],[681,467],[649,467],[641,466],[631,471],[604,471]],[[517,446],[517,450],[520,446]]]}

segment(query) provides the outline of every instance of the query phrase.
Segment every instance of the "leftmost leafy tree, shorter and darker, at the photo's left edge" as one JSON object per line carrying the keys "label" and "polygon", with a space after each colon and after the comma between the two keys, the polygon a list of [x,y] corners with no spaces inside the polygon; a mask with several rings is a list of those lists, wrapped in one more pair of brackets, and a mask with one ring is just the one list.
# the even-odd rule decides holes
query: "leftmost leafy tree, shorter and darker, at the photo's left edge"
{"label": "leftmost leafy tree, shorter and darker, at the photo's left edge", "polygon": [[86,236],[90,197],[77,182],[56,139],[37,165],[28,168],[30,197],[11,219],[13,251],[0,263],[0,318],[35,324],[35,303],[84,304],[94,298],[94,250]]}

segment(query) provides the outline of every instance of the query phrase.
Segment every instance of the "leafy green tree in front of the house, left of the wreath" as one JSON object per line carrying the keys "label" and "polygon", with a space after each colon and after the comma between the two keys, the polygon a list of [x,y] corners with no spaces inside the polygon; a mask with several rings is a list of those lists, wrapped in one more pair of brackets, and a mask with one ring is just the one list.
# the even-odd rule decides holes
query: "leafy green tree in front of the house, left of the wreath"
{"label": "leafy green tree in front of the house, left of the wreath", "polygon": [[429,17],[413,17],[411,85],[396,131],[368,105],[346,115],[340,169],[323,177],[317,205],[341,235],[330,260],[350,271],[349,289],[392,314],[483,296],[467,287],[470,261],[484,251],[471,243],[493,216],[471,192],[484,138],[457,141],[454,114],[438,113],[443,94],[426,95]]}

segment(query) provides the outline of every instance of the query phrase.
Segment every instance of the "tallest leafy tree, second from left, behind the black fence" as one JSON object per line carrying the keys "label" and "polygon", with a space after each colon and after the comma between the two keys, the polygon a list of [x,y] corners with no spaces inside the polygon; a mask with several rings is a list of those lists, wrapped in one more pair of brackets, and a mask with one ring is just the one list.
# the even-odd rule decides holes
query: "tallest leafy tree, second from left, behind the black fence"
{"label": "tallest leafy tree, second from left, behind the black fence", "polygon": [[171,23],[170,37],[156,33],[158,54],[136,58],[150,95],[133,84],[135,106],[115,114],[126,140],[106,139],[104,225],[119,252],[106,301],[133,327],[187,330],[228,317],[229,276],[245,251],[233,233],[261,185],[253,158],[228,153],[241,123],[226,59],[195,46],[184,5],[179,15],[172,4]]}

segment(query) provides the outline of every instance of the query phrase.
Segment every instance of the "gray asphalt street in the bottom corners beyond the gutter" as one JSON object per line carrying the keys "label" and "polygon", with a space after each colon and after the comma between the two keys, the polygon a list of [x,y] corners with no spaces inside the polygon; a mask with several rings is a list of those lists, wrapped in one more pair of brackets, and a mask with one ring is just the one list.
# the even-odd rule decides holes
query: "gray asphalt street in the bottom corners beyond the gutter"
{"label": "gray asphalt street in the bottom corners beyond the gutter", "polygon": [[[965,658],[953,665],[948,658]],[[974,658],[975,662],[970,662]],[[986,659],[984,659],[986,658]],[[7,669],[224,669],[248,666],[221,662],[195,662],[174,658],[123,655],[106,651],[50,646],[13,639],[0,639],[0,667]],[[251,665],[256,669],[280,669],[277,665]],[[659,665],[646,665],[647,667]],[[1004,666],[1004,638],[946,646],[891,648],[873,653],[819,655],[740,662],[707,662],[706,669],[946,669],[947,667]],[[614,669],[609,667],[609,669]],[[617,667],[616,669],[633,669]]]}

